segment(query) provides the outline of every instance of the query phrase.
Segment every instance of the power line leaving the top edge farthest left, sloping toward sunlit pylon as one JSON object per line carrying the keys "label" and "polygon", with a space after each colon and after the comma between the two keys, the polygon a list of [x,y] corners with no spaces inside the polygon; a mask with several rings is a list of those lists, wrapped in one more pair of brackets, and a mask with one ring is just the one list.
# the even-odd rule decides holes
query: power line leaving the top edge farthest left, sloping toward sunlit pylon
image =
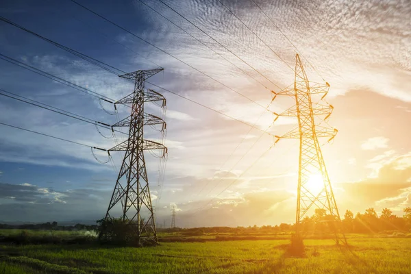
{"label": "power line leaving the top edge farthest left, sloping toward sunlit pylon", "polygon": [[166,53],[167,55],[171,56],[171,57],[174,58],[175,60],[178,60],[179,62],[182,62],[182,63],[185,64],[186,66],[189,66],[191,69],[194,69],[195,71],[203,74],[204,76],[206,76],[206,77],[214,80],[215,82],[221,84],[221,85],[224,86],[225,88],[228,88],[229,90],[232,90],[233,92],[236,92],[236,93],[237,93],[238,95],[240,95],[241,97],[244,97],[245,99],[251,101],[252,103],[255,103],[256,105],[259,105],[261,108],[264,108],[264,106],[261,105],[260,103],[257,103],[257,102],[254,101],[253,99],[251,99],[251,98],[243,95],[241,92],[238,92],[237,90],[234,90],[234,88],[230,88],[229,86],[227,86],[227,85],[224,84],[223,82],[220,82],[219,80],[217,80],[217,79],[215,79],[214,77],[208,75],[207,73],[204,73],[203,71],[200,71],[199,69],[196,69],[194,66],[191,66],[190,64],[184,62],[183,60],[175,57],[173,54],[171,54],[171,53],[169,53],[169,52],[167,52],[167,51],[164,51],[164,49],[161,49],[160,47],[157,47],[156,45],[154,45],[153,43],[145,40],[144,38],[141,38],[140,36],[137,36],[136,34],[130,32],[128,29],[125,29],[124,27],[121,27],[121,25],[118,25],[118,24],[114,23],[113,21],[110,21],[108,18],[105,18],[104,16],[98,14],[97,12],[94,12],[94,11],[90,10],[89,8],[86,8],[84,5],[82,5],[82,4],[80,4],[80,3],[77,3],[77,2],[74,1],[74,0],[71,0],[71,1],[72,1],[73,3],[79,5],[80,7],[88,10],[88,11],[91,12],[92,14],[95,14],[96,16],[99,16],[100,18],[102,18],[103,20],[107,21],[108,23],[111,23],[112,25],[115,25],[116,27],[119,27],[120,29],[123,29],[123,31],[127,32],[128,34],[131,34],[132,36],[134,36],[134,37],[142,40],[143,42],[146,42],[148,45],[151,45],[152,47],[155,47],[155,49],[158,49],[159,51],[162,51],[162,53]]}

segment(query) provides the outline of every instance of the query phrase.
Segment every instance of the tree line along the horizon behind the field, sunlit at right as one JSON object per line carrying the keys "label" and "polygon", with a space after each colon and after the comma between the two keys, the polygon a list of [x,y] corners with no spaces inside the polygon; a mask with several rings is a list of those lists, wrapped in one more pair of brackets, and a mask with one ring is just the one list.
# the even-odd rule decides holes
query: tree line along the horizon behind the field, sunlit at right
{"label": "tree line along the horizon behind the field, sunlit at right", "polygon": [[[387,231],[411,232],[411,207],[403,209],[403,216],[397,216],[393,212],[384,208],[378,216],[374,208],[368,208],[364,213],[358,212],[355,216],[351,210],[346,210],[342,221],[339,224],[341,232],[345,233],[379,233]],[[299,229],[309,234],[324,234],[332,232],[336,222],[332,216],[327,214],[325,209],[316,208],[312,216],[306,216],[302,221]],[[25,224],[25,225],[7,225],[0,224],[0,229],[38,229],[38,230],[97,230],[99,225],[58,225],[57,222]],[[195,227],[158,229],[159,232],[183,232],[185,234],[266,234],[279,232],[295,231],[295,224],[281,223],[280,225],[249,225],[248,227]]]}

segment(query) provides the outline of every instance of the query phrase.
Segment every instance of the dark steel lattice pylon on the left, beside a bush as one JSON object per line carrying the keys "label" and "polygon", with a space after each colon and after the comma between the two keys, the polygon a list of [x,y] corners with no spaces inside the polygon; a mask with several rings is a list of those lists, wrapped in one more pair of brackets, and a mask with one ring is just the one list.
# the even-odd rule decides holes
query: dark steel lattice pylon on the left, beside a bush
{"label": "dark steel lattice pylon on the left, beside a bush", "polygon": [[159,142],[143,138],[143,132],[145,125],[162,125],[162,129],[166,127],[166,123],[160,117],[144,111],[146,102],[161,101],[162,107],[166,105],[166,99],[160,93],[145,90],[145,80],[162,70],[135,71],[120,76],[134,80],[134,92],[116,101],[116,104],[132,104],[132,114],[112,125],[112,127],[129,127],[129,137],[109,149],[109,151],[125,151],[125,155],[105,220],[114,219],[114,215],[119,212],[118,206],[121,205],[121,219],[131,226],[128,231],[132,232],[132,238],[138,245],[158,243],[144,151],[160,149],[164,156],[167,148]]}

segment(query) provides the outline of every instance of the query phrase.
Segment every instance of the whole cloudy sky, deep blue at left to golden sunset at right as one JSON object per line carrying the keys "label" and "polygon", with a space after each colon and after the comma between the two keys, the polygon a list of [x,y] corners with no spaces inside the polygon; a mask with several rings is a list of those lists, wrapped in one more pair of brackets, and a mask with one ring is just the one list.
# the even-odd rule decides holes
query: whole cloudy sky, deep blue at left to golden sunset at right
{"label": "whole cloudy sky, deep blue at left to golden sunset at right", "polygon": [[[411,206],[411,2],[255,1],[261,10],[252,0],[164,0],[192,25],[158,0],[79,0],[157,48],[68,0],[5,0],[0,16],[122,71],[161,66],[149,82],[239,120],[146,83],[167,100],[169,158],[161,191],[157,159],[146,153],[160,226],[170,225],[171,206],[179,227],[295,221],[298,140],[274,145],[273,136],[240,121],[279,136],[297,125],[290,117],[273,123],[260,106],[272,112],[292,106],[290,98],[270,102],[271,90],[294,81],[296,49],[310,81],[330,84],[326,99],[334,112],[327,123],[338,135],[320,143],[340,214],[373,207],[401,216]],[[110,98],[133,90],[124,79],[4,22],[0,53]],[[108,124],[129,115],[124,106],[110,115],[111,104],[103,103],[103,110],[95,97],[4,60],[0,68],[0,88],[8,92]],[[160,114],[155,105],[145,109]],[[1,123],[105,149],[127,138],[105,138],[107,129],[103,137],[94,125],[4,96],[0,110]],[[112,153],[114,166],[100,164],[88,147],[4,125],[0,133],[0,223],[104,216],[121,152]],[[149,128],[145,134],[158,138]]]}

